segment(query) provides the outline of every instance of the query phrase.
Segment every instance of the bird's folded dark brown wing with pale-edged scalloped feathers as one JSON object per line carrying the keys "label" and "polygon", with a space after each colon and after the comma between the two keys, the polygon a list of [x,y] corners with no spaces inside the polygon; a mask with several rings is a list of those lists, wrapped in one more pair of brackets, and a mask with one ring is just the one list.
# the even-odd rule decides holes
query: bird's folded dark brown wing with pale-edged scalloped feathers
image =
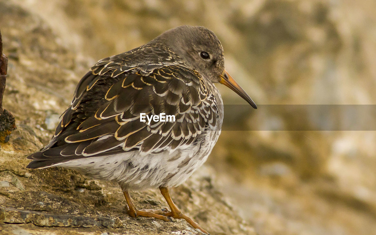
{"label": "bird's folded dark brown wing with pale-edged scalloped feathers", "polygon": [[[50,143],[27,158],[63,162],[135,150],[173,151],[215,129],[217,101],[196,71],[161,64],[123,71],[109,64],[97,67],[80,81]],[[140,113],[176,120],[142,122]]]}

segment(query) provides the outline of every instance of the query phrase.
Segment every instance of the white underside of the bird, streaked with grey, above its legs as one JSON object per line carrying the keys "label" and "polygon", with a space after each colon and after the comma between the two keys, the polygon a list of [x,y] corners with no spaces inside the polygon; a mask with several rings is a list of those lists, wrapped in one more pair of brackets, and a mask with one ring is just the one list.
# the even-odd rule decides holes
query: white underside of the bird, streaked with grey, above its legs
{"label": "white underside of the bird, streaked with grey, above its legs", "polygon": [[177,186],[208,159],[219,133],[213,131],[205,143],[173,152],[141,155],[138,151],[109,156],[75,159],[59,166],[71,168],[95,179],[117,182],[125,190]]}

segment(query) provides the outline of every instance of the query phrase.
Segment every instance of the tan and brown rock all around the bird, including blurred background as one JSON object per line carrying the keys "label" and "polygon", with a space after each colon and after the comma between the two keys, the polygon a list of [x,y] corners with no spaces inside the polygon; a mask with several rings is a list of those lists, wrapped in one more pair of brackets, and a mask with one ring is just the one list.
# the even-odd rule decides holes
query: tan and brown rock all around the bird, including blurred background
{"label": "tan and brown rock all around the bird, including blurred background", "polygon": [[[375,104],[375,4],[0,0],[9,57],[3,106],[18,127],[0,150],[0,219],[25,221],[2,223],[1,233],[195,233],[183,221],[124,215],[116,185],[61,168],[24,169],[25,156],[48,142],[88,67],[191,24],[219,36],[226,70],[259,109],[239,105],[241,98],[218,86],[231,104],[225,107],[225,130],[206,167],[174,189],[180,208],[211,234],[373,234],[376,132],[318,131],[346,120],[337,113],[325,119],[326,112],[312,105]],[[286,111],[282,104],[304,110],[278,112]],[[278,131],[297,127],[302,130]],[[156,191],[132,196],[140,208],[165,206]],[[63,227],[40,226],[57,223]],[[74,227],[80,223],[88,227]]]}

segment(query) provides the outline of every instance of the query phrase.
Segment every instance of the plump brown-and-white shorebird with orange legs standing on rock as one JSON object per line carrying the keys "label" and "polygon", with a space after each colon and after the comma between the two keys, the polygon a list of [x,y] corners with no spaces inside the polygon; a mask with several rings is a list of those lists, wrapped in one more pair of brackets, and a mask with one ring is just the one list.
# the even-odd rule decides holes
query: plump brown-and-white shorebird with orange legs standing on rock
{"label": "plump brown-and-white shorebird with orange legs standing on rock", "polygon": [[[49,143],[27,156],[27,168],[64,167],[118,183],[131,217],[184,219],[170,188],[208,158],[223,122],[222,83],[253,108],[255,102],[224,67],[211,30],[179,26],[127,52],[99,60],[79,81]],[[150,118],[174,116],[175,120]],[[136,209],[129,191],[159,188],[170,211]]]}

